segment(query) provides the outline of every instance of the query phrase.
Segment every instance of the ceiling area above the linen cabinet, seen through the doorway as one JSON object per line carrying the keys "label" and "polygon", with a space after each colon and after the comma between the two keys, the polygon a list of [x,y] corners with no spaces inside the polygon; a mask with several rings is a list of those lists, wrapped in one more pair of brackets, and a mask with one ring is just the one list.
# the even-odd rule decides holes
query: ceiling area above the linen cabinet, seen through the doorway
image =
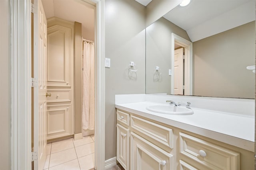
{"label": "ceiling area above the linen cabinet, seen through the doorway", "polygon": [[82,36],[94,41],[95,6],[83,0],[42,0],[46,18],[53,16],[82,23]]}

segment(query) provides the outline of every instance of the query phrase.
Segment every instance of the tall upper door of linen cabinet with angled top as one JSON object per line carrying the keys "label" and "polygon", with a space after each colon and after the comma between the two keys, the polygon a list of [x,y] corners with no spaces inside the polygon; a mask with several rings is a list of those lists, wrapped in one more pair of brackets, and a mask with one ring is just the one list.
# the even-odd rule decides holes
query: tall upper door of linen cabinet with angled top
{"label": "tall upper door of linen cabinet with angled top", "polygon": [[48,27],[48,85],[72,85],[73,41],[69,27]]}

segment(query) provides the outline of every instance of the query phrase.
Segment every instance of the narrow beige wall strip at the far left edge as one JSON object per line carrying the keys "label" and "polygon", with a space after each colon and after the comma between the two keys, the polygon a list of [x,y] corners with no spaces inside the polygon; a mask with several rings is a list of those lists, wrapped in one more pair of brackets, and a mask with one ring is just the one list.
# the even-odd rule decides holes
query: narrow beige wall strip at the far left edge
{"label": "narrow beige wall strip at the far left edge", "polygon": [[11,110],[10,110],[10,7],[9,0],[0,1],[0,169],[11,168]]}

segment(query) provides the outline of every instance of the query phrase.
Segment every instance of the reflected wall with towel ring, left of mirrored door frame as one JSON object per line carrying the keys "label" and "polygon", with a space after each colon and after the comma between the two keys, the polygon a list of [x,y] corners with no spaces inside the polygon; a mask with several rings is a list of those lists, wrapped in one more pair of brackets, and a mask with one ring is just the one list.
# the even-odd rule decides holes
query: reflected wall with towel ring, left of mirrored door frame
{"label": "reflected wall with towel ring, left of mirrored door frame", "polygon": [[[172,33],[190,41],[186,31],[160,18],[146,28],[146,93],[170,94],[171,76],[171,36]],[[160,78],[157,79],[156,66],[160,67]]]}

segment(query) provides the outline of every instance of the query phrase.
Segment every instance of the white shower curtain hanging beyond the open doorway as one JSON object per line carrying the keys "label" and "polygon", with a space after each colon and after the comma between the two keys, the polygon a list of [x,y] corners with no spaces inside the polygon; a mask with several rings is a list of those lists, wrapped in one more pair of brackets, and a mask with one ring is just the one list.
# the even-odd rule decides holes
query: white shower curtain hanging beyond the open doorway
{"label": "white shower curtain hanging beyond the open doorway", "polygon": [[84,42],[83,50],[83,129],[94,129],[94,43]]}

